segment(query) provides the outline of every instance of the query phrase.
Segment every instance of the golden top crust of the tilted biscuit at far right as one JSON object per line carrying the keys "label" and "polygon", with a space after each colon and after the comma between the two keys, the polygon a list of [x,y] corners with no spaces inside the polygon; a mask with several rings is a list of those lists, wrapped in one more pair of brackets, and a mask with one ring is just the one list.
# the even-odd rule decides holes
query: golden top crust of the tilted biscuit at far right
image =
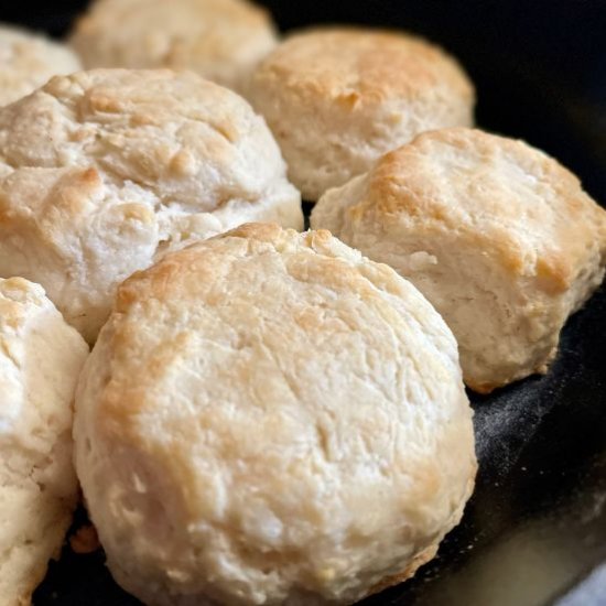
{"label": "golden top crust of the tilted biscuit at far right", "polygon": [[426,132],[369,173],[354,221],[399,221],[480,242],[517,274],[569,288],[592,247],[606,253],[606,212],[554,159],[479,130]]}

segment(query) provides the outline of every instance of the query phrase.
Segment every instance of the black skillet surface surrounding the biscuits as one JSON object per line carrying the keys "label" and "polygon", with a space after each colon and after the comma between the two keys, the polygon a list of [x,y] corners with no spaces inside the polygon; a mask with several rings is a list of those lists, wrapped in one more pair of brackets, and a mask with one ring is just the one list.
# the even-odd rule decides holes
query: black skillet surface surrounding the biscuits
{"label": "black skillet surface surrounding the biscuits", "polygon": [[[284,29],[405,28],[442,43],[478,89],[478,122],[543,148],[606,202],[606,2],[267,2]],[[61,33],[82,2],[22,0],[0,19]],[[409,583],[365,606],[606,605],[606,288],[566,325],[550,374],[472,394],[480,470],[462,524]],[[101,553],[64,550],[35,606],[129,606]]]}

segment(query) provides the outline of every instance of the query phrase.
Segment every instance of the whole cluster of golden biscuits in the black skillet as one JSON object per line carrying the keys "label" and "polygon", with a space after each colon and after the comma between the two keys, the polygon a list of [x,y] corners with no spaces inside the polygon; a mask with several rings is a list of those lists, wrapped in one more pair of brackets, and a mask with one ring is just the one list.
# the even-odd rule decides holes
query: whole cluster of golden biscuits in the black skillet
{"label": "whole cluster of golden biscuits in the black skillet", "polygon": [[473,491],[464,382],[547,371],[606,213],[402,32],[97,0],[69,44],[0,30],[0,605],[78,480],[149,605],[411,576]]}

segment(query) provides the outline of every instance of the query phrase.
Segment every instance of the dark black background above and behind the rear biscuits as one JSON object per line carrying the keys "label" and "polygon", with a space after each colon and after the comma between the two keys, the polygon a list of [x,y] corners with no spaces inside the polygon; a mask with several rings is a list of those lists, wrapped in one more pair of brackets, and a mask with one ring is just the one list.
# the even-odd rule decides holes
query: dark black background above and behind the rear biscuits
{"label": "dark black background above and behind the rear biscuits", "polygon": [[[170,0],[166,0],[170,1]],[[78,0],[0,3],[0,19],[62,34]],[[521,137],[606,199],[606,0],[267,0],[283,30],[321,22],[403,28],[444,45],[478,89],[483,127]],[[596,165],[599,162],[599,165]]]}

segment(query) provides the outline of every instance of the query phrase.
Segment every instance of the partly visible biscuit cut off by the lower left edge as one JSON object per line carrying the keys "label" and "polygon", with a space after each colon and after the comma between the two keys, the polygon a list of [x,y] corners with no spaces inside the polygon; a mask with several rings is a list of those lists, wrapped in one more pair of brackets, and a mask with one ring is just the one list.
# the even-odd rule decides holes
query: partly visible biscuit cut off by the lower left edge
{"label": "partly visible biscuit cut off by the lower left edge", "polygon": [[87,355],[40,285],[0,280],[0,606],[31,604],[72,521],[72,403]]}

